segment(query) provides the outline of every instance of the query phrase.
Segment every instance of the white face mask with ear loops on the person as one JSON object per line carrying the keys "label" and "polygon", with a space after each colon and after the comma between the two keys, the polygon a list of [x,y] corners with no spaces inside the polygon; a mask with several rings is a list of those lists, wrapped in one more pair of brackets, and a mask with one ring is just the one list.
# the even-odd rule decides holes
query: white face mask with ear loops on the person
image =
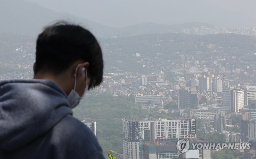
{"label": "white face mask with ear loops on the person", "polygon": [[[82,65],[82,64],[79,64],[79,65],[77,65],[77,67],[76,67],[76,72],[77,72],[77,68],[80,66],[80,65]],[[83,72],[81,72],[81,74],[82,74]],[[85,87],[85,89],[84,89],[84,93],[87,91],[87,90],[89,90],[89,85],[88,85],[88,76],[87,76],[87,69],[85,68],[85,75],[86,75],[86,87]],[[83,93],[83,95],[80,97],[79,96],[79,94],[75,91],[76,90],[76,73],[75,73],[75,86],[74,86],[74,89],[72,89],[71,91],[70,91],[70,93],[68,94],[68,102],[69,102],[69,107],[71,108],[71,109],[73,109],[74,107],[76,107],[78,104],[79,104],[79,102],[80,102],[80,100],[84,97],[84,93]]]}

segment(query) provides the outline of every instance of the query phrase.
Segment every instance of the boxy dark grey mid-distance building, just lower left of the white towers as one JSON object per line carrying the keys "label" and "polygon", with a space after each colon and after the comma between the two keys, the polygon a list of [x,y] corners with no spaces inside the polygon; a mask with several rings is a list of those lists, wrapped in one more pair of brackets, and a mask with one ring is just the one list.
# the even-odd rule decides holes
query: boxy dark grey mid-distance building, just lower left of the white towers
{"label": "boxy dark grey mid-distance building, just lower left of the white towers", "polygon": [[198,90],[196,88],[181,88],[178,90],[179,108],[195,107],[198,104]]}

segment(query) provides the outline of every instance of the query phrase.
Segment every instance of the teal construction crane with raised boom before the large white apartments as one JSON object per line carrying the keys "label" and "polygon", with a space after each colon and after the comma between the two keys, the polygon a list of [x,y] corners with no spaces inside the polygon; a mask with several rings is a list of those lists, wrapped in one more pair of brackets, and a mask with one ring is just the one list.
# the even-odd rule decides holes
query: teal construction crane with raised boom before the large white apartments
{"label": "teal construction crane with raised boom before the large white apartments", "polygon": [[139,130],[136,128],[136,133],[137,133],[136,136],[137,136],[137,138],[139,139],[140,159],[143,158],[143,157],[142,157],[142,156],[143,156],[143,155],[142,155],[142,138],[144,139],[144,137],[143,137],[143,135],[144,135],[144,129],[145,129],[145,126],[146,126],[147,121],[148,121],[148,116],[149,116],[150,110],[151,110],[151,108],[153,107],[153,103],[154,103],[154,99],[151,100],[151,104],[150,104],[150,106],[149,106],[149,108],[148,108],[148,113],[147,113],[147,115],[146,115],[146,118],[145,118],[145,120],[144,120],[142,129],[140,130],[140,132],[139,132]]}

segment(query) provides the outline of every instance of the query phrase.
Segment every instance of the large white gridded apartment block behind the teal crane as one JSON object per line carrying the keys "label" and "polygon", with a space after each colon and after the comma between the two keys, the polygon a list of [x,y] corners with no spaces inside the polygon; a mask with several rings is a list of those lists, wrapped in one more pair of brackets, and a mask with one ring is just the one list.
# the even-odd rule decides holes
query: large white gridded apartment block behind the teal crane
{"label": "large white gridded apartment block behind the teal crane", "polygon": [[[144,127],[145,125],[145,127]],[[142,129],[144,127],[144,131]],[[123,150],[124,159],[139,159],[141,156],[139,147],[139,136],[137,130],[141,134],[142,141],[155,142],[160,136],[165,139],[189,138],[185,134],[190,134],[196,138],[196,120],[126,120],[123,119]]]}

